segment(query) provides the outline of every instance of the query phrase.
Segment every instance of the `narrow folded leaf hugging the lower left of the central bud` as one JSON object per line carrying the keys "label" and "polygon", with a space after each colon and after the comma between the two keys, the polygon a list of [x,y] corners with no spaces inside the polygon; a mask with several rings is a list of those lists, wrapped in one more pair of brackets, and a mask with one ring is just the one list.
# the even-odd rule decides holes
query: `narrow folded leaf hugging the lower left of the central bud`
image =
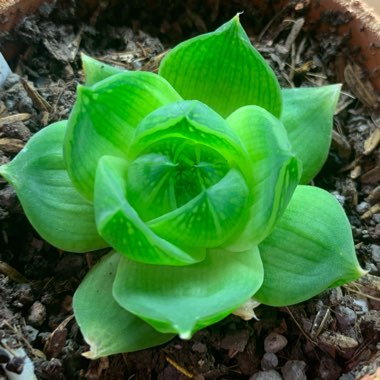
{"label": "narrow folded leaf hugging the lower left of the central bud", "polygon": [[128,163],[120,158],[100,159],[95,180],[94,207],[100,235],[123,255],[139,262],[186,265],[202,260],[204,249],[185,252],[157,236],[127,200]]}

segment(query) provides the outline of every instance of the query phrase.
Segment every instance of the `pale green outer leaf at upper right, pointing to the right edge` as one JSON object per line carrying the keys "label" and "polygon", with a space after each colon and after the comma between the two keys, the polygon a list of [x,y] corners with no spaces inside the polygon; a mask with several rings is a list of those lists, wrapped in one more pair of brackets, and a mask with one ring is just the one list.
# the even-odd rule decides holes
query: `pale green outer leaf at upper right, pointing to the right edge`
{"label": "pale green outer leaf at upper right, pointing to the right edge", "polygon": [[341,85],[282,90],[284,123],[292,148],[302,161],[301,183],[308,183],[326,161]]}

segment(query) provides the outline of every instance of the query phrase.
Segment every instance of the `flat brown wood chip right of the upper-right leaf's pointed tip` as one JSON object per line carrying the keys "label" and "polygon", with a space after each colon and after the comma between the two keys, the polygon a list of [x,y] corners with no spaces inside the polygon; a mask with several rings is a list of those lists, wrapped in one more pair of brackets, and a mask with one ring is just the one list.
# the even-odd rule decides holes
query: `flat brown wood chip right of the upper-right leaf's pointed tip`
{"label": "flat brown wood chip right of the upper-right leaf's pointed tip", "polygon": [[362,79],[363,73],[358,65],[349,63],[344,69],[344,79],[355,96],[367,107],[379,107],[375,90],[368,80]]}

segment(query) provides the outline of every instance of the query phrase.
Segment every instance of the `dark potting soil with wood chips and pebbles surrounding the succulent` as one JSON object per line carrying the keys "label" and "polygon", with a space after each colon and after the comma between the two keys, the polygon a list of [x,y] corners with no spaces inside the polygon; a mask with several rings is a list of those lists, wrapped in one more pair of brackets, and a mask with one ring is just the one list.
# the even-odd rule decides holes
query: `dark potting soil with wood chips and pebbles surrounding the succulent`
{"label": "dark potting soil with wood chips and pebbles surrounding the succulent", "polygon": [[[0,36],[14,72],[0,93],[1,162],[40,128],[67,117],[82,80],[80,52],[154,71],[167,47],[244,10],[243,24],[283,86],[344,82],[332,148],[315,184],[344,206],[369,275],[299,305],[260,306],[259,321],[230,316],[189,341],[89,361],[81,356],[88,347],[72,316],[72,295],[102,253],[68,254],[42,241],[1,180],[2,347],[23,347],[37,377],[47,380],[375,379],[369,375],[380,367],[380,118],[368,73],[352,63],[347,37],[317,40],[301,28],[305,1],[279,13],[265,2],[268,17],[244,0],[78,3],[44,5]],[[357,86],[368,88],[375,102],[368,104]]]}

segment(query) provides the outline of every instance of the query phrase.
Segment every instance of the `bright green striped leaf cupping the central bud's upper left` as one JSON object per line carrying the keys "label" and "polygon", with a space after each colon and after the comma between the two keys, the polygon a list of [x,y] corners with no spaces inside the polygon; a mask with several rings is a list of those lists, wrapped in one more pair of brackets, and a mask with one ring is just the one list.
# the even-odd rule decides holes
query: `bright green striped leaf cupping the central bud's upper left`
{"label": "bright green striped leaf cupping the central bud's upper left", "polygon": [[92,200],[100,157],[125,157],[137,124],[179,100],[163,78],[147,72],[126,71],[92,87],[78,86],[64,144],[67,170],[78,191]]}

